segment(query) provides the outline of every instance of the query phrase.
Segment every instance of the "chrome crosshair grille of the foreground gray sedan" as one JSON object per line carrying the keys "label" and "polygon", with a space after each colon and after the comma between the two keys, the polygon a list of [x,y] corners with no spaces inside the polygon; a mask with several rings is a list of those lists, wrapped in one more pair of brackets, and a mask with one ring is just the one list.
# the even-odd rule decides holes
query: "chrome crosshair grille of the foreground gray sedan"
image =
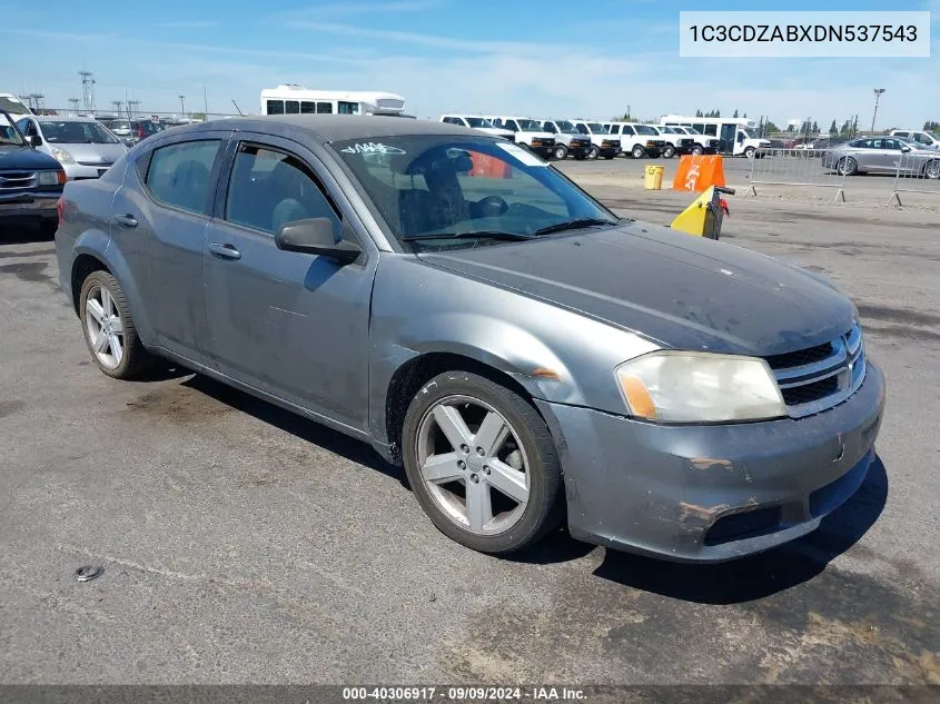
{"label": "chrome crosshair grille of the foreground gray sedan", "polygon": [[820,413],[849,398],[865,375],[861,328],[830,343],[764,357],[793,418]]}

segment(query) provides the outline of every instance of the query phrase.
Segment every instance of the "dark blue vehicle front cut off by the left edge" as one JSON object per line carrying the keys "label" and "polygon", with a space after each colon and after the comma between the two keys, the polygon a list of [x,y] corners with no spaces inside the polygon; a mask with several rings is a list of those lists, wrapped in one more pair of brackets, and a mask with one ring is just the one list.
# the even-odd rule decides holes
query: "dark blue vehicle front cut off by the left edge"
{"label": "dark blue vehicle front cut off by the left edge", "polygon": [[27,141],[16,122],[0,110],[0,236],[19,222],[36,222],[52,235],[56,204],[66,185],[61,165]]}

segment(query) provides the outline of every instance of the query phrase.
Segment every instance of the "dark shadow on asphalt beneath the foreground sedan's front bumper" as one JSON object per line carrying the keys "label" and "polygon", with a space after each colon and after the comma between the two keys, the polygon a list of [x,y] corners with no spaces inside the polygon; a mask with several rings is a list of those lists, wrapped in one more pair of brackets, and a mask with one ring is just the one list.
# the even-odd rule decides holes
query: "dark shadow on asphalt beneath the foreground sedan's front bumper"
{"label": "dark shadow on asphalt beneath the foreground sedan's front bumper", "polygon": [[783,592],[822,573],[858,543],[888,500],[888,474],[875,457],[852,497],[820,527],[778,548],[716,565],[671,563],[607,551],[594,574],[624,586],[699,604],[740,604]]}

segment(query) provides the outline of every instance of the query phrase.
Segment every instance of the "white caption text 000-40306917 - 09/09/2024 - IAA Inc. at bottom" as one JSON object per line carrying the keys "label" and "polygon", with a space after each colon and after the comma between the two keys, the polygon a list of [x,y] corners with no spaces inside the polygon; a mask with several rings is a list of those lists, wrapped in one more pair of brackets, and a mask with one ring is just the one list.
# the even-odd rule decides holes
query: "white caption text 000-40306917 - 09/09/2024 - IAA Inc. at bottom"
{"label": "white caption text 000-40306917 - 09/09/2024 - IAA Inc. at bottom", "polygon": [[576,702],[585,693],[576,687],[520,686],[413,686],[344,687],[343,698],[349,702]]}

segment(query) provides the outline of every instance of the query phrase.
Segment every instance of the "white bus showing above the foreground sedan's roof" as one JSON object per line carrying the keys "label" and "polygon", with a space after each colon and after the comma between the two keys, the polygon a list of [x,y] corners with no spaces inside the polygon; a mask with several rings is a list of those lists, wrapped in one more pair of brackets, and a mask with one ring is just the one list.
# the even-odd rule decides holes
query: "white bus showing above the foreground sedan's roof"
{"label": "white bus showing above the foreground sedan's roof", "polygon": [[261,115],[404,115],[405,99],[379,91],[307,90],[287,83],[261,91]]}

